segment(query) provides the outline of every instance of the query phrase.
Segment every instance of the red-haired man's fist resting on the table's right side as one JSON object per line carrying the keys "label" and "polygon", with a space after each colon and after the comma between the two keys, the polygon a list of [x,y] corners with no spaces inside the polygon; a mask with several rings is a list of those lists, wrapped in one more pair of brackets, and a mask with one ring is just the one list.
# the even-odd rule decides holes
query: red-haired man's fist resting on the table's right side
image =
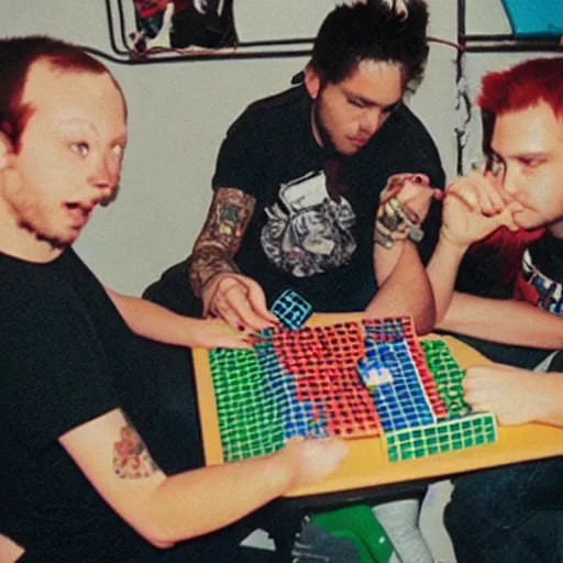
{"label": "red-haired man's fist resting on the table's right side", "polygon": [[553,397],[545,383],[552,376],[501,364],[470,367],[464,398],[474,410],[494,412],[499,424],[541,421],[551,415]]}

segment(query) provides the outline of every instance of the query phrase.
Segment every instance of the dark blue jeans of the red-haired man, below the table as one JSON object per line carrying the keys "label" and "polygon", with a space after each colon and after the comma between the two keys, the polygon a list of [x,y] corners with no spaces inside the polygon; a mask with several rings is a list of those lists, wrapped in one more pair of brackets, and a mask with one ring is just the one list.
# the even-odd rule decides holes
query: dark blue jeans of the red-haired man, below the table
{"label": "dark blue jeans of the red-haired man, below the table", "polygon": [[444,523],[457,563],[562,563],[563,457],[454,479]]}

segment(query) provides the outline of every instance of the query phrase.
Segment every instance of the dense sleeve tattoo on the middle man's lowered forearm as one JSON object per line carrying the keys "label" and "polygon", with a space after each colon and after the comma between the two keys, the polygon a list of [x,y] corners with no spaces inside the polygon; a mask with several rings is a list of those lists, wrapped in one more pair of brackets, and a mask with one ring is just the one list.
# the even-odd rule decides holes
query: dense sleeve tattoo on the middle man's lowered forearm
{"label": "dense sleeve tattoo on the middle man's lowered forearm", "polygon": [[256,200],[236,188],[216,191],[203,229],[189,260],[189,279],[196,296],[217,274],[239,272],[234,255],[249,227]]}

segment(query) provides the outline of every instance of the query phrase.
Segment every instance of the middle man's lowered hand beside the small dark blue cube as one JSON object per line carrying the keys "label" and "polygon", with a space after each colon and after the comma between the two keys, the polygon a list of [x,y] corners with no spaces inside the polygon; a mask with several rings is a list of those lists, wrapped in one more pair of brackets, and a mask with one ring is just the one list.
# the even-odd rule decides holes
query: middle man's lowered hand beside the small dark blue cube
{"label": "middle man's lowered hand beside the small dark blue cube", "polygon": [[256,331],[278,323],[254,279],[242,274],[219,274],[203,289],[203,311],[239,331]]}

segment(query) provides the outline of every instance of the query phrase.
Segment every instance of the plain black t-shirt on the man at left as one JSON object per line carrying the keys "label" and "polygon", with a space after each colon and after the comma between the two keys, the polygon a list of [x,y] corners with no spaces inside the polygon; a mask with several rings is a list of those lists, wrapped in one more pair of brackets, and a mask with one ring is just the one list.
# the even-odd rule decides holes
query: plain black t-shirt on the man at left
{"label": "plain black t-shirt on the man at left", "polygon": [[[57,441],[115,408],[135,426],[150,410],[141,340],[96,277],[71,250],[48,264],[0,254],[0,533],[25,562],[188,561],[187,544],[136,534]],[[134,401],[132,385],[146,387]]]}

